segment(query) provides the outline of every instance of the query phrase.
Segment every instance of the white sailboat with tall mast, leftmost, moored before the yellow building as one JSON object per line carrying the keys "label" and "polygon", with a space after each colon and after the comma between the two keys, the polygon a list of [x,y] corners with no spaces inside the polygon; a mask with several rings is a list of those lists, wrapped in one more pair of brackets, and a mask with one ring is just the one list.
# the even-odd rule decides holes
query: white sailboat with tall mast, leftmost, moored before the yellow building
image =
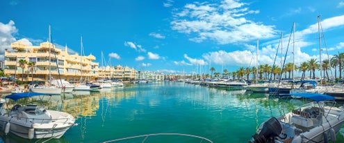
{"label": "white sailboat with tall mast, leftmost, moored before the yellow building", "polygon": [[62,92],[62,88],[59,88],[58,86],[51,86],[51,57],[50,57],[50,53],[51,53],[51,49],[50,49],[50,45],[53,46],[54,49],[54,45],[51,44],[51,32],[50,32],[50,26],[49,26],[49,41],[48,41],[48,45],[49,45],[49,84],[45,85],[45,86],[40,86],[38,84],[34,85],[33,87],[30,88],[30,90],[33,93],[43,93],[43,94],[47,94],[47,95],[60,95]]}

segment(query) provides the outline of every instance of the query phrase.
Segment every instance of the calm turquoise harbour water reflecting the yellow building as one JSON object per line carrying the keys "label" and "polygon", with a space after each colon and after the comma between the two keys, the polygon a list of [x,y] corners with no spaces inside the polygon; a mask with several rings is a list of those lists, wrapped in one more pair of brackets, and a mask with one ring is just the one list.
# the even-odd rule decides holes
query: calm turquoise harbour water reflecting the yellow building
{"label": "calm turquoise harbour water reflecting the yellow building", "polygon": [[[24,140],[2,132],[0,135],[5,142],[104,142],[151,133],[183,133],[213,142],[248,142],[261,122],[303,102],[181,82],[132,84],[99,93],[54,97],[47,108],[74,115],[78,124],[60,139]],[[343,141],[341,132],[337,138]],[[146,142],[200,140],[162,136],[149,137]]]}

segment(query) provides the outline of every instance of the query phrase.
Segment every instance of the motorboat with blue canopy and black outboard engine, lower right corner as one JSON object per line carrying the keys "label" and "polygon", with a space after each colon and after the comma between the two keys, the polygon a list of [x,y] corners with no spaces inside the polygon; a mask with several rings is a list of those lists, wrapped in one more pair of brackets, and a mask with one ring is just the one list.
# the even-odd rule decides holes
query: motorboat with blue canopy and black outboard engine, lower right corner
{"label": "motorboat with blue canopy and black outboard engine, lower right corner", "polygon": [[319,93],[294,93],[292,97],[312,99],[281,117],[271,117],[259,126],[249,142],[336,142],[344,122],[344,107],[334,97]]}

